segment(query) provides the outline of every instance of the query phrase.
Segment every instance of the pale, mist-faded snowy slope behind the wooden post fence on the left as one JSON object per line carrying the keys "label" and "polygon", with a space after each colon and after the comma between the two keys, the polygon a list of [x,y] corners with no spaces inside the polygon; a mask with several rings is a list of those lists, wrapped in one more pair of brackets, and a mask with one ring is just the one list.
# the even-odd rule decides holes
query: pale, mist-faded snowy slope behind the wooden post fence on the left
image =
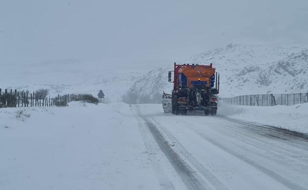
{"label": "pale, mist-faded snowy slope behind the wooden post fence on the left", "polygon": [[35,91],[49,89],[49,95],[91,93],[100,89],[106,102],[121,102],[134,81],[143,76],[144,68],[123,68],[77,59],[18,60],[0,67],[0,88]]}

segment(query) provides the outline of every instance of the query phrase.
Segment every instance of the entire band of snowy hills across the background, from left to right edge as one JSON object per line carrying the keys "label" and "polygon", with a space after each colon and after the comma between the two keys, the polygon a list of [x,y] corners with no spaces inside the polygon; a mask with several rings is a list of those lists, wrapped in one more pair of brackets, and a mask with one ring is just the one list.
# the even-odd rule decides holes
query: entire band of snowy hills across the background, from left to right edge
{"label": "entire band of snowy hills across the background, from left to right edge", "polygon": [[[1,64],[0,87],[18,90],[48,88],[50,95],[91,93],[102,89],[106,102],[160,103],[173,63],[126,68],[77,59]],[[221,97],[261,93],[307,92],[308,45],[229,44],[196,54],[182,63],[213,63],[221,76]],[[150,69],[149,69],[150,68]],[[12,77],[13,76],[13,77]],[[10,78],[8,80],[8,78]]]}

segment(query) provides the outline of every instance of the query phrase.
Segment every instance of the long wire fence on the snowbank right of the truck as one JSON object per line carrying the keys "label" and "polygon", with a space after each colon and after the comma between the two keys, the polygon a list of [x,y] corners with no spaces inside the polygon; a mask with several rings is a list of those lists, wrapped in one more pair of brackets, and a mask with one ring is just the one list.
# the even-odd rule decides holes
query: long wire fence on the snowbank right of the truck
{"label": "long wire fence on the snowbank right of the truck", "polygon": [[231,98],[219,98],[220,101],[241,106],[293,106],[308,102],[308,93],[296,94],[254,94],[235,96]]}

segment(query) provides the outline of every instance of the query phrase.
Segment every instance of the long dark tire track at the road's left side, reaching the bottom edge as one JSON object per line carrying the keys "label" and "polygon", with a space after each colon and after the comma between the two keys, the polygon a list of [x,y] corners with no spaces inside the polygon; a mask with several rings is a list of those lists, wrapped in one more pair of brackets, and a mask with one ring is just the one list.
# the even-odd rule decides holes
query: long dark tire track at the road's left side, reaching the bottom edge
{"label": "long dark tire track at the road's left side, reaching the bottom edge", "polygon": [[197,175],[192,171],[192,168],[185,163],[184,160],[175,152],[168,142],[165,140],[163,135],[159,132],[157,127],[144,115],[141,114],[140,110],[137,108],[138,114],[145,120],[151,134],[153,135],[158,147],[167,157],[179,177],[184,182],[188,190],[208,190],[210,189],[205,182],[202,181]]}

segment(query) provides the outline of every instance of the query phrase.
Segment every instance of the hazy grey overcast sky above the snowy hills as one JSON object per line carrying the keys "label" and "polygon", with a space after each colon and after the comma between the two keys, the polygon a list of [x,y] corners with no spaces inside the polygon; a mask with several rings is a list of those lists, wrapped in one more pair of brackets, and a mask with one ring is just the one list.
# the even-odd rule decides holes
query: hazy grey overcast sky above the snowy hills
{"label": "hazy grey overcast sky above the snowy hills", "polygon": [[228,43],[283,42],[308,43],[308,0],[0,0],[0,64],[172,64]]}

